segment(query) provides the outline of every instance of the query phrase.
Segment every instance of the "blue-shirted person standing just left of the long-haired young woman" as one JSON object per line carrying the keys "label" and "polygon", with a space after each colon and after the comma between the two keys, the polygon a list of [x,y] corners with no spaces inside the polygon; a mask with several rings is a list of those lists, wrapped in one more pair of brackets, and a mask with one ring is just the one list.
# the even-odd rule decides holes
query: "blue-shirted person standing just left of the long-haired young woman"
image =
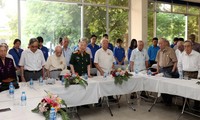
{"label": "blue-shirted person standing just left of the long-haired young woman", "polygon": [[117,47],[114,48],[114,57],[115,57],[115,64],[116,65],[124,65],[125,59],[125,50],[122,48],[123,41],[121,39],[117,39]]}

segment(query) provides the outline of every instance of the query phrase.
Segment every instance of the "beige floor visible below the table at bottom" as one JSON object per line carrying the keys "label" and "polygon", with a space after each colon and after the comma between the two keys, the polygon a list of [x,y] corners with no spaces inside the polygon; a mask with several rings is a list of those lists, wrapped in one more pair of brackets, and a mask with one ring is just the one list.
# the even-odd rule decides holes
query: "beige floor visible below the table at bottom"
{"label": "beige floor visible below the table at bottom", "polygon": [[[120,100],[120,108],[117,105],[112,105],[111,109],[113,117],[110,115],[108,108],[104,107],[95,108],[80,108],[79,116],[81,120],[176,120],[181,113],[177,106],[165,106],[162,103],[157,103],[151,112],[148,109],[152,105],[151,102],[141,100],[140,104],[134,102],[136,111],[128,107],[123,96]],[[77,117],[73,118],[76,120]],[[198,117],[193,117],[188,114],[183,114],[179,120],[200,120]]]}

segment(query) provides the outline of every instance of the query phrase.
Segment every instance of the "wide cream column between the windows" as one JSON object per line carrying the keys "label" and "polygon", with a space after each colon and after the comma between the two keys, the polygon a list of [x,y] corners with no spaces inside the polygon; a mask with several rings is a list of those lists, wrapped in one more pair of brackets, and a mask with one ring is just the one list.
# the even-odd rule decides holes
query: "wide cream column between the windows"
{"label": "wide cream column between the windows", "polygon": [[143,40],[147,43],[148,34],[148,0],[131,0],[131,39]]}

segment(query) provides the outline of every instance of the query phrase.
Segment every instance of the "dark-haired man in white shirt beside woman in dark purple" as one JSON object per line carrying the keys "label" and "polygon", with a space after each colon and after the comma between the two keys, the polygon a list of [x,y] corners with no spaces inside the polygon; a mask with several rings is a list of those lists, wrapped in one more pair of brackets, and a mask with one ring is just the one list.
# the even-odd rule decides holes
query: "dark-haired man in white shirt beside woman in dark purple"
{"label": "dark-haired man in white shirt beside woman in dark purple", "polygon": [[44,65],[45,59],[42,51],[38,49],[38,40],[31,38],[29,49],[22,52],[19,62],[22,81],[38,80],[40,77],[44,78]]}

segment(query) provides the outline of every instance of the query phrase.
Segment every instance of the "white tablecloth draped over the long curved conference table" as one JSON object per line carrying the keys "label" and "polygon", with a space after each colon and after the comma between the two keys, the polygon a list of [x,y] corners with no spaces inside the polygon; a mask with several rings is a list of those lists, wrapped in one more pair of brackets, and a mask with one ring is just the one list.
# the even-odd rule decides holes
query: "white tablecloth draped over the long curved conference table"
{"label": "white tablecloth draped over the long curved conference table", "polygon": [[[0,93],[0,109],[11,108],[11,111],[0,113],[0,120],[13,120],[13,118],[15,120],[44,119],[42,115],[31,112],[31,109],[35,108],[41,99],[46,96],[44,90],[58,94],[66,101],[68,107],[73,107],[97,103],[98,99],[103,96],[123,95],[143,90],[200,100],[200,85],[197,85],[196,82],[197,80],[180,80],[139,74],[132,76],[122,85],[115,85],[111,76],[107,79],[101,76],[89,78],[86,89],[80,85],[71,85],[65,88],[60,81],[57,81],[55,85],[43,86],[39,86],[39,83],[36,82],[34,88],[30,88],[28,85],[20,85],[20,89],[15,90],[14,99],[9,97],[8,91]],[[22,91],[25,91],[27,95],[26,107],[20,106]]]}

